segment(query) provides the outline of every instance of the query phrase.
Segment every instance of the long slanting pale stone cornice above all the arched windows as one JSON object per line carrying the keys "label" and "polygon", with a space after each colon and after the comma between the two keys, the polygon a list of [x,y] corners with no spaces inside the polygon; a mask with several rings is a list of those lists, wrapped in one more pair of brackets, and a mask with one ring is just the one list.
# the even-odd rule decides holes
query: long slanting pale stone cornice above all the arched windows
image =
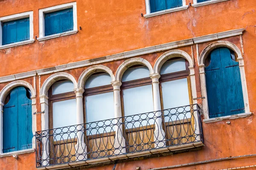
{"label": "long slanting pale stone cornice above all the arched windows", "polygon": [[104,63],[104,62],[111,62],[111,61],[115,61],[115,60],[119,60],[119,59],[127,59],[127,58],[136,57],[136,56],[140,56],[140,55],[171,50],[174,48],[193,45],[193,44],[197,44],[197,43],[208,42],[208,41],[212,41],[212,40],[219,40],[222,38],[241,35],[243,33],[243,31],[244,31],[244,28],[230,30],[230,31],[224,31],[224,32],[216,33],[216,34],[209,34],[209,35],[195,37],[195,38],[191,38],[191,39],[187,39],[187,40],[180,40],[180,41],[169,42],[169,43],[160,44],[160,45],[154,45],[151,47],[140,48],[137,50],[127,51],[127,52],[123,52],[123,53],[119,53],[119,54],[113,54],[113,55],[109,55],[109,56],[105,56],[105,57],[99,57],[99,58],[95,58],[95,59],[87,59],[87,60],[83,60],[83,61],[79,61],[79,62],[58,65],[58,66],[51,67],[51,68],[43,68],[43,69],[39,69],[39,70],[35,70],[35,71],[28,71],[25,73],[0,77],[0,83],[11,82],[11,81],[14,81],[17,79],[23,79],[23,78],[27,78],[27,77],[33,77],[36,74],[38,74],[38,75],[51,74],[51,73],[70,70],[70,69],[74,69],[74,68],[81,68],[81,67],[85,67],[85,66],[96,65],[96,64],[100,64],[100,63]]}

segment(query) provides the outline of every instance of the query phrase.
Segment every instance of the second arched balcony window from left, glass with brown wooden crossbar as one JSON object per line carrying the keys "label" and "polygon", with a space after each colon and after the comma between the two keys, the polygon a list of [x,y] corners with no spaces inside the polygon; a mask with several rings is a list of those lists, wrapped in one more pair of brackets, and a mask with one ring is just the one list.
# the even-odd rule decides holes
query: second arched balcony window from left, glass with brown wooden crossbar
{"label": "second arched balcony window from left, glass with brown wooden crossbar", "polygon": [[[110,75],[105,72],[98,72],[91,75],[86,80],[84,89],[86,122],[113,119],[114,97]],[[109,132],[111,128],[90,130],[90,134],[87,135],[103,133],[104,130],[106,130],[105,132]]]}

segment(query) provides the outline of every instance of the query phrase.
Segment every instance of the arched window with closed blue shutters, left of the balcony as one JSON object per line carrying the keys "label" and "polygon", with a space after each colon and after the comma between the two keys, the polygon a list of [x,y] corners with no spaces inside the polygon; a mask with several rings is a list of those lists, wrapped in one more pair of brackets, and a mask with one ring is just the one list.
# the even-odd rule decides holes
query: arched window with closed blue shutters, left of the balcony
{"label": "arched window with closed blue shutters, left of the balcony", "polygon": [[3,106],[3,153],[32,148],[31,92],[22,86],[12,89]]}

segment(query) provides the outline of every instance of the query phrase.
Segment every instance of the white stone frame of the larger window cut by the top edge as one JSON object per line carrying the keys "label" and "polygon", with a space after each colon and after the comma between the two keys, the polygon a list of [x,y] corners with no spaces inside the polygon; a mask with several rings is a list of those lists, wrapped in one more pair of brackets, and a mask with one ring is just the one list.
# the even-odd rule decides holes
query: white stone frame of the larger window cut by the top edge
{"label": "white stone frame of the larger window cut by the top edge", "polygon": [[171,13],[171,12],[175,12],[175,11],[181,11],[181,10],[185,10],[185,9],[189,8],[189,6],[186,5],[186,0],[182,0],[182,6],[166,9],[163,11],[157,11],[157,12],[153,12],[153,13],[150,12],[149,0],[145,0],[145,6],[146,6],[146,14],[144,15],[145,18],[154,17],[154,16],[162,15],[162,14],[167,14],[167,13]]}

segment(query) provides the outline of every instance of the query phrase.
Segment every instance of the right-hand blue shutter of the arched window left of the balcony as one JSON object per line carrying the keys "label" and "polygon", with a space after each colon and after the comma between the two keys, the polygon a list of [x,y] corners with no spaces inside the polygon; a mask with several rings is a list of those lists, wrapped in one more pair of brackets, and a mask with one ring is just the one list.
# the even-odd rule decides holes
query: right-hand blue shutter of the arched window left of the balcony
{"label": "right-hand blue shutter of the arched window left of the balcony", "polygon": [[26,89],[18,87],[18,149],[32,148],[32,106],[26,96]]}

